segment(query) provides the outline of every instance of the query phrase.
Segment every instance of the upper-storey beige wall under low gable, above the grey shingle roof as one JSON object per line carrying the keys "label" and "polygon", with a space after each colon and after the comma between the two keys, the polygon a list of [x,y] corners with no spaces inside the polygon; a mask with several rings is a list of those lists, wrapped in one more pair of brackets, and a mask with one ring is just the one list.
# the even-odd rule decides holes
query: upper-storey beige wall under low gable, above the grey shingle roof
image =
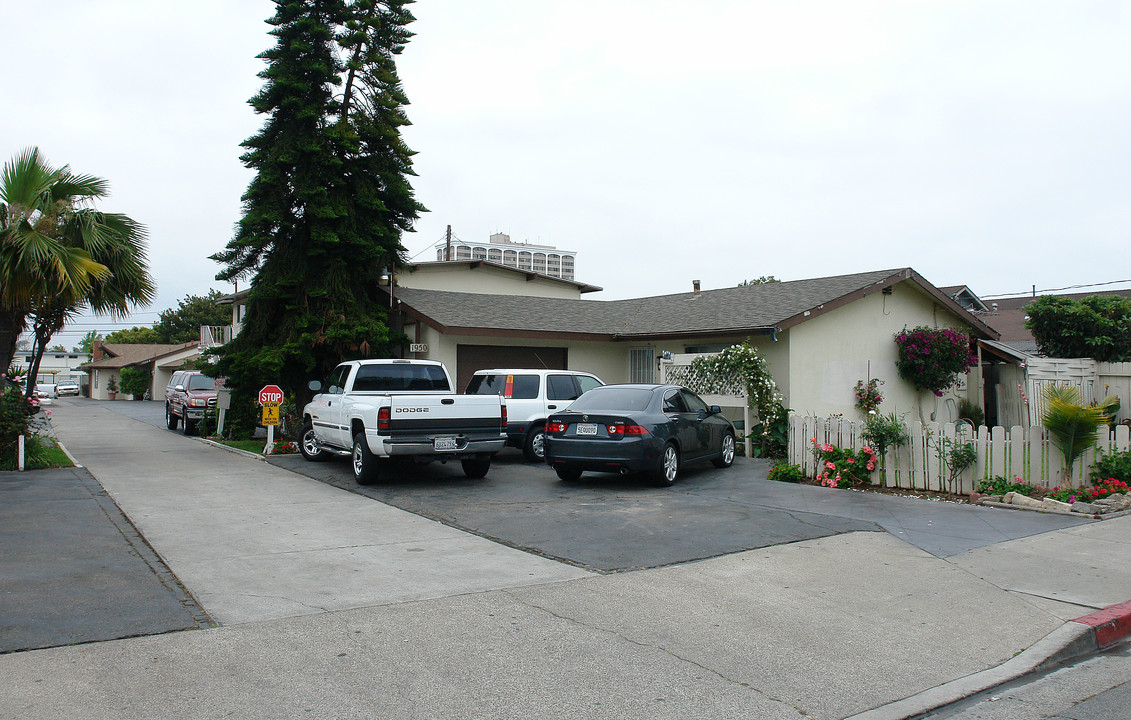
{"label": "upper-storey beige wall under low gable, above the grey shingle roof", "polygon": [[[529,278],[529,279],[527,279]],[[581,292],[573,283],[532,276],[525,271],[504,270],[486,264],[466,263],[420,264],[397,275],[397,285],[425,290],[478,293],[487,295],[529,295],[578,300]],[[394,290],[396,292],[396,290]]]}

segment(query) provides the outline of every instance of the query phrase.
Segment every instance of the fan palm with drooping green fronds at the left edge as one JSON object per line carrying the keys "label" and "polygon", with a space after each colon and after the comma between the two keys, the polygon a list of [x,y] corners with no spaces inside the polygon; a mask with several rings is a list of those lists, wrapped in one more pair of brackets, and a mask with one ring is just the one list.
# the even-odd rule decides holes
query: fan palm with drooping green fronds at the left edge
{"label": "fan palm with drooping green fronds at the left edge", "polygon": [[[28,318],[35,319],[37,338],[50,339],[83,309],[124,316],[131,305],[152,302],[156,288],[146,267],[145,228],[124,215],[89,207],[107,192],[105,180],[51,167],[37,148],[5,165],[0,367],[11,363]],[[40,355],[46,339],[37,341]]]}

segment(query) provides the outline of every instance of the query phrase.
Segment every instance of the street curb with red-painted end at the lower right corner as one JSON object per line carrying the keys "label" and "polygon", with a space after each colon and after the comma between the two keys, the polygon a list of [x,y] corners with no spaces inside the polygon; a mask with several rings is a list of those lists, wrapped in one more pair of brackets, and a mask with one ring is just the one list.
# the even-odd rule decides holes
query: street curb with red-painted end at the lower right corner
{"label": "street curb with red-painted end at the lower right corner", "polygon": [[1048,670],[1131,636],[1131,600],[1077,617],[998,667],[987,668],[844,720],[912,720],[1030,673]]}

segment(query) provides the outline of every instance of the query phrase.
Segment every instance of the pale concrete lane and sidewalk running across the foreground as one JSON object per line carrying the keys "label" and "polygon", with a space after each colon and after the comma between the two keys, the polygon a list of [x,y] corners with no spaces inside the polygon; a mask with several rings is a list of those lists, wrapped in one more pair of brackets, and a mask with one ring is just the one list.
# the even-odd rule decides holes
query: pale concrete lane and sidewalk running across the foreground
{"label": "pale concrete lane and sidewalk running across the foreground", "polygon": [[0,656],[0,717],[832,720],[1131,598],[1131,519],[947,558],[852,532],[597,575],[97,404],[54,417],[219,626]]}

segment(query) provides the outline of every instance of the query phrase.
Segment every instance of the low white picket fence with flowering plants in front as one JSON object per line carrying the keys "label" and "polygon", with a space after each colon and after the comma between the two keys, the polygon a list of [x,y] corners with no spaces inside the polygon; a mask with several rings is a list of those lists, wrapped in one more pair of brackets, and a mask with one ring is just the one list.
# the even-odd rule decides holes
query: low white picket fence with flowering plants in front
{"label": "low white picket fence with flowering plants in front", "polygon": [[[817,444],[831,444],[858,451],[865,443],[860,439],[863,423],[843,418],[820,418],[812,416],[789,416],[788,461],[801,466],[809,476],[817,470]],[[907,423],[910,442],[887,453],[887,487],[927,489],[966,494],[978,483],[994,477],[1020,478],[1034,485],[1047,487],[1079,487],[1089,484],[1089,471],[1100,452],[1116,452],[1131,449],[1131,428],[1116,425],[1114,430],[1103,427],[1096,433],[1096,446],[1076,461],[1070,482],[1062,480],[1063,457],[1048,440],[1041,426],[1004,428],[981,426],[973,431],[969,425],[958,427],[953,423]],[[949,471],[940,449],[941,439],[973,442],[977,452],[974,466],[967,468],[953,484],[948,483]],[[880,469],[872,472],[872,483],[881,483]]]}

